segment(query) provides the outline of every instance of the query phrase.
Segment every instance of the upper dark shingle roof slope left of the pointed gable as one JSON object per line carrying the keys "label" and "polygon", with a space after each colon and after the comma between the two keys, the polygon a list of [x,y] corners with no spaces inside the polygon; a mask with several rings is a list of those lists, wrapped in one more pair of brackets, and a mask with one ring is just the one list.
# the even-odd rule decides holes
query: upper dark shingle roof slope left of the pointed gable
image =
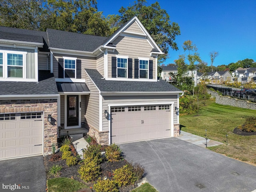
{"label": "upper dark shingle roof slope left of the pointed gable", "polygon": [[47,29],[49,47],[92,52],[103,44],[106,37]]}

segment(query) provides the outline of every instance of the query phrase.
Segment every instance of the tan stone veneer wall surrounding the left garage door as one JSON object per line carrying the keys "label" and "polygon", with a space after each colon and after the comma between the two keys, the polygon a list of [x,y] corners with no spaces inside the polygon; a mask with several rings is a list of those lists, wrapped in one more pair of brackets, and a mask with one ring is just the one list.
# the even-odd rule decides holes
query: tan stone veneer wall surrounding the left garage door
{"label": "tan stone veneer wall surrounding the left garage door", "polygon": [[[51,153],[52,145],[58,145],[57,99],[0,100],[1,113],[40,111],[44,112],[44,155],[47,155]],[[52,122],[48,122],[48,114],[52,115]]]}

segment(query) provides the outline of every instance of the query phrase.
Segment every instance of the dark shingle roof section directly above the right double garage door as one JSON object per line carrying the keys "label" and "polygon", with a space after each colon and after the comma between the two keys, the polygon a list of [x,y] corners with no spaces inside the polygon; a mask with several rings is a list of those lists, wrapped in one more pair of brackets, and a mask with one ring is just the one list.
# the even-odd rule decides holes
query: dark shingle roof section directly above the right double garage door
{"label": "dark shingle roof section directly above the right double garage door", "polygon": [[96,69],[85,70],[101,92],[182,92],[164,80],[157,82],[105,80]]}

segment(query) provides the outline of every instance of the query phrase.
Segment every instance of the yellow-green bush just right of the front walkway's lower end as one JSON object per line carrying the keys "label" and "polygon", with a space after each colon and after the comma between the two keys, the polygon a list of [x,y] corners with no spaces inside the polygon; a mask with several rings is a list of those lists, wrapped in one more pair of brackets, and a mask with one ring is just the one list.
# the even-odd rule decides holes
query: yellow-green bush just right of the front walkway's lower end
{"label": "yellow-green bush just right of the front walkway's lower end", "polygon": [[97,164],[102,163],[103,157],[100,148],[99,144],[87,146],[87,149],[84,151],[84,159],[90,158],[91,160],[96,160]]}

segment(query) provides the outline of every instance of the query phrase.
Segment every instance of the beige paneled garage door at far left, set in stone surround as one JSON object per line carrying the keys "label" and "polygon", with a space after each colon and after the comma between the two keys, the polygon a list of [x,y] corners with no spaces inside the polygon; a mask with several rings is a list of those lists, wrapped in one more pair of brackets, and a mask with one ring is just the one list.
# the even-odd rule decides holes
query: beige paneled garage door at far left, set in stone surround
{"label": "beige paneled garage door at far left, set in stone surround", "polygon": [[42,112],[0,114],[0,160],[42,154]]}

